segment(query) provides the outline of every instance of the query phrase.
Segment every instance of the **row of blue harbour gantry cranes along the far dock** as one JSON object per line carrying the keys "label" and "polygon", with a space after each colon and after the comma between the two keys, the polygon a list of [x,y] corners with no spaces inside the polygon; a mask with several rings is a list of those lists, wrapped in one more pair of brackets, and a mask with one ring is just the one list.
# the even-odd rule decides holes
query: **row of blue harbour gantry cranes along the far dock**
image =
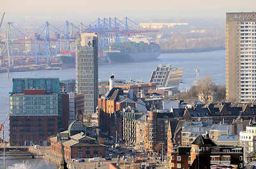
{"label": "row of blue harbour gantry cranes along the far dock", "polygon": [[[52,57],[54,55],[57,56],[59,51],[63,49],[74,51],[74,42],[77,39],[77,35],[81,32],[96,32],[98,34],[98,48],[101,51],[103,46],[110,46],[114,42],[121,41],[121,37],[124,37],[124,41],[127,41],[128,36],[147,32],[158,32],[158,30],[143,29],[128,17],[123,20],[115,17],[98,18],[89,25],[81,22],[78,26],[72,22],[68,22],[68,20],[59,27],[45,22],[44,25],[30,30],[30,32],[29,34],[25,33],[12,22],[8,22],[5,31],[5,41],[2,41],[4,45],[0,51],[4,52],[3,48],[9,46],[10,51],[8,56],[11,57],[15,55],[12,46],[15,44],[24,44],[25,50],[24,52],[19,52],[20,54],[34,55],[36,57],[36,64],[40,64],[41,57],[45,57],[47,62],[50,63]],[[8,37],[8,40],[6,37]],[[10,63],[8,66],[10,66]]]}

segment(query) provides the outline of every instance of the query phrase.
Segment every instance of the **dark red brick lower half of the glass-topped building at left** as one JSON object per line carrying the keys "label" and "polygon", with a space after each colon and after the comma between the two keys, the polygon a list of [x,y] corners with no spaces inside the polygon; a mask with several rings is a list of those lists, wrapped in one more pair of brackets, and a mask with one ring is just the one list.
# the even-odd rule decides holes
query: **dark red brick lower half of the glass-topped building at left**
{"label": "dark red brick lower half of the glass-topped building at left", "polygon": [[10,145],[47,145],[57,133],[58,116],[10,116]]}

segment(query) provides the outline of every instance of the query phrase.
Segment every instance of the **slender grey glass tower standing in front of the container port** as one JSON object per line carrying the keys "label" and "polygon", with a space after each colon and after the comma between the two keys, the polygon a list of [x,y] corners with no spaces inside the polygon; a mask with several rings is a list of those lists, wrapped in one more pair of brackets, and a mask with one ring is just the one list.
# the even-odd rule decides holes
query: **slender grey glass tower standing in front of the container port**
{"label": "slender grey glass tower standing in front of the container port", "polygon": [[81,34],[77,41],[77,93],[84,94],[84,116],[98,105],[98,35]]}

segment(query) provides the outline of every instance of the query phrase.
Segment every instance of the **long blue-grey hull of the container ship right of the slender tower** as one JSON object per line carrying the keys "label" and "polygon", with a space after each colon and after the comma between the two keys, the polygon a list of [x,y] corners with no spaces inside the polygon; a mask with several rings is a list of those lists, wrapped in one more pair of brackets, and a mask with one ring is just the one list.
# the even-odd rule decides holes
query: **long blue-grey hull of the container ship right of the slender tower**
{"label": "long blue-grey hull of the container ship right of the slender tower", "polygon": [[143,51],[132,53],[108,53],[107,57],[111,63],[146,62],[158,58],[160,54],[160,51]]}

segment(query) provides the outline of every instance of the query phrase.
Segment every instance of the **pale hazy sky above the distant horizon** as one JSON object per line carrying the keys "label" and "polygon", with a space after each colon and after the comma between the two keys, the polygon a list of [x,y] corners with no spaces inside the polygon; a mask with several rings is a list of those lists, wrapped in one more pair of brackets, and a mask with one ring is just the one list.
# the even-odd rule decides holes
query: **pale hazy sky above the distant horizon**
{"label": "pale hazy sky above the distant horizon", "polygon": [[[256,0],[0,0],[6,14],[75,17],[225,17],[227,11],[253,11]],[[63,16],[64,15],[64,16]],[[19,17],[21,17],[19,15]]]}

